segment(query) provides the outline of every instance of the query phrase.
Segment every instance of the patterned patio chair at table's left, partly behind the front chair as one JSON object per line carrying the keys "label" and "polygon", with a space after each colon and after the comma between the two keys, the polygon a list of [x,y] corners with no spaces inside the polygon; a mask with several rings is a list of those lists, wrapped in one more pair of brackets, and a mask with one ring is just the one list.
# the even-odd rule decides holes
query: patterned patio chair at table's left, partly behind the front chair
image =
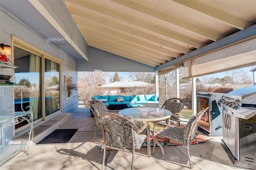
{"label": "patterned patio chair at table's left, partly behind the front chair", "polygon": [[90,101],[90,109],[92,111],[92,114],[94,115],[94,121],[95,121],[95,125],[94,125],[95,132],[93,137],[93,142],[94,142],[97,127],[101,127],[100,123],[98,122],[99,115],[102,113],[111,112],[111,111],[108,110],[108,108],[102,101],[98,101],[98,100]]}

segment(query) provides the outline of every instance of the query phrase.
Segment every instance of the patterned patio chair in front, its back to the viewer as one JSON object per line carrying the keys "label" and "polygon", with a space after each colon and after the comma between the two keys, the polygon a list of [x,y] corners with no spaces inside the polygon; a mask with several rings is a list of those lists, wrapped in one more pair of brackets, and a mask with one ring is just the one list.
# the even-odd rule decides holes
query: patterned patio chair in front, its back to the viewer
{"label": "patterned patio chair in front, its back to the viewer", "polygon": [[[102,149],[104,149],[102,170],[104,169],[107,148],[132,153],[133,170],[135,150],[140,150],[146,137],[147,140],[150,140],[150,125],[146,123],[138,129],[131,116],[121,116],[114,113],[103,113],[99,115],[99,118],[104,138],[102,144]],[[144,129],[147,130],[147,135],[140,134]],[[150,142],[147,143],[148,157],[150,158]]]}

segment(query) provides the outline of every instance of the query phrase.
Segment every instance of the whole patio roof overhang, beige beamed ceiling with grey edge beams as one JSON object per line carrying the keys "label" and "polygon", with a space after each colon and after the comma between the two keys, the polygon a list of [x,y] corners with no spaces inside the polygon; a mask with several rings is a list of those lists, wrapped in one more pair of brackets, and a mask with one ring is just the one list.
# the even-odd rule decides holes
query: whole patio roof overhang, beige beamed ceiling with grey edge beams
{"label": "whole patio roof overhang, beige beamed ceiling with grey edge beams", "polygon": [[[0,5],[73,57],[77,71],[172,69],[256,35],[255,1],[2,0]],[[255,63],[236,67],[250,65]]]}

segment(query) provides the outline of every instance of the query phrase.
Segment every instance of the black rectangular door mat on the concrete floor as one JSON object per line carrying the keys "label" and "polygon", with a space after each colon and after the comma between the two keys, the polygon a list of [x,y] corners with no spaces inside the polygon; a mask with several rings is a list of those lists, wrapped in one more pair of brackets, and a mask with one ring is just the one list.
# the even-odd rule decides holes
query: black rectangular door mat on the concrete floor
{"label": "black rectangular door mat on the concrete floor", "polygon": [[76,133],[75,129],[56,129],[37,144],[66,144]]}

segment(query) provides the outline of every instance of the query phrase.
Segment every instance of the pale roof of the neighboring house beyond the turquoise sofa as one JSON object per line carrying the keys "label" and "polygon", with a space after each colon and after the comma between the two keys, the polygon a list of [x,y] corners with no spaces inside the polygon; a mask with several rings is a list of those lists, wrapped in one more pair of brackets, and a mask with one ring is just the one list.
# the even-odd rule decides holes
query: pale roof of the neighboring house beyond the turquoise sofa
{"label": "pale roof of the neighboring house beyond the turquoise sofa", "polygon": [[110,83],[107,85],[102,85],[100,87],[138,87],[138,86],[149,86],[152,85],[150,83],[145,83],[142,81],[116,81],[114,83]]}

